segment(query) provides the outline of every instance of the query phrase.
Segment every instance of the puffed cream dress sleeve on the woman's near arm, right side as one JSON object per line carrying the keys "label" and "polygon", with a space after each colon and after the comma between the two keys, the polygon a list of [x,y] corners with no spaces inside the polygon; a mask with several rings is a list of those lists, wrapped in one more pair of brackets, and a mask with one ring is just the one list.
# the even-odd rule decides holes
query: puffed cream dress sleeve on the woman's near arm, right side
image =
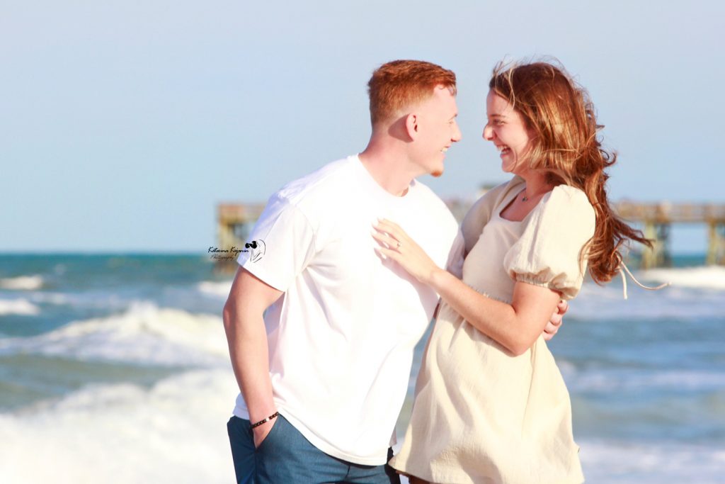
{"label": "puffed cream dress sleeve on the woman's near arm, right side", "polygon": [[595,211],[587,195],[556,186],[531,213],[521,238],[508,250],[504,267],[512,279],[574,298],[584,281],[586,251],[594,235]]}

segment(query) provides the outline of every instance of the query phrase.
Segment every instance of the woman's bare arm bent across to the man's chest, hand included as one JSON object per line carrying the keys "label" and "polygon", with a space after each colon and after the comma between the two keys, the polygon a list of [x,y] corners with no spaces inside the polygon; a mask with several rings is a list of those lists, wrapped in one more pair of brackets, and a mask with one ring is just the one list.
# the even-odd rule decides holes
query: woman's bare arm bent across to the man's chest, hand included
{"label": "woman's bare arm bent across to the man's chest, hand included", "polygon": [[[514,355],[521,355],[542,334],[558,308],[560,295],[546,287],[517,282],[511,304],[487,298],[456,276],[436,266],[397,224],[381,221],[373,237],[379,251],[428,284],[466,321]],[[564,309],[566,311],[566,308]]]}

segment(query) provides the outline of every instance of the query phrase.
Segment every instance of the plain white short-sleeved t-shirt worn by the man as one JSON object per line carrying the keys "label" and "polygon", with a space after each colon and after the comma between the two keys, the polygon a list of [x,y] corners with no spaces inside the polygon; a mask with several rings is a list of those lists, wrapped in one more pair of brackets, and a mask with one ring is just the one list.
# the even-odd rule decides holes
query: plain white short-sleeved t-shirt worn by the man
{"label": "plain white short-sleeved t-shirt worn by the man", "polygon": [[[377,218],[399,223],[438,266],[460,258],[455,218],[431,189],[413,181],[395,197],[357,156],[273,194],[239,256],[284,292],[265,314],[278,410],[321,451],[368,465],[386,462],[413,348],[438,302],[378,257]],[[241,394],[234,414],[249,418]]]}

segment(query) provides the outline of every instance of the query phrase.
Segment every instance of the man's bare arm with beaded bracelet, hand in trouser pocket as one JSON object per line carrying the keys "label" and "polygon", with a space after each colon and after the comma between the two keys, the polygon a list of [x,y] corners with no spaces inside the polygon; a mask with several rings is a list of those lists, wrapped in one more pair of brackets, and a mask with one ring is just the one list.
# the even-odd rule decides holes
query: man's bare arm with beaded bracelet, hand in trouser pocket
{"label": "man's bare arm with beaded bracelet, hand in trouser pocket", "polygon": [[[260,422],[277,411],[272,398],[267,331],[262,316],[282,294],[240,267],[224,305],[224,330],[231,366],[247,402],[252,423]],[[276,420],[273,419],[252,430],[254,446],[265,440],[274,422]]]}

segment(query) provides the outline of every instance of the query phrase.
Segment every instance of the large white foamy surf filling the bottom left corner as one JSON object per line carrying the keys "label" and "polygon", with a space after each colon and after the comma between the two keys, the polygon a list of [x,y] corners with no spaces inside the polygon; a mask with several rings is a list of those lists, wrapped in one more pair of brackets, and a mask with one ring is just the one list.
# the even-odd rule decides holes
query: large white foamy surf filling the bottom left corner
{"label": "large white foamy surf filling the bottom left corner", "polygon": [[4,483],[229,483],[231,369],[176,375],[151,389],[93,385],[0,414]]}

